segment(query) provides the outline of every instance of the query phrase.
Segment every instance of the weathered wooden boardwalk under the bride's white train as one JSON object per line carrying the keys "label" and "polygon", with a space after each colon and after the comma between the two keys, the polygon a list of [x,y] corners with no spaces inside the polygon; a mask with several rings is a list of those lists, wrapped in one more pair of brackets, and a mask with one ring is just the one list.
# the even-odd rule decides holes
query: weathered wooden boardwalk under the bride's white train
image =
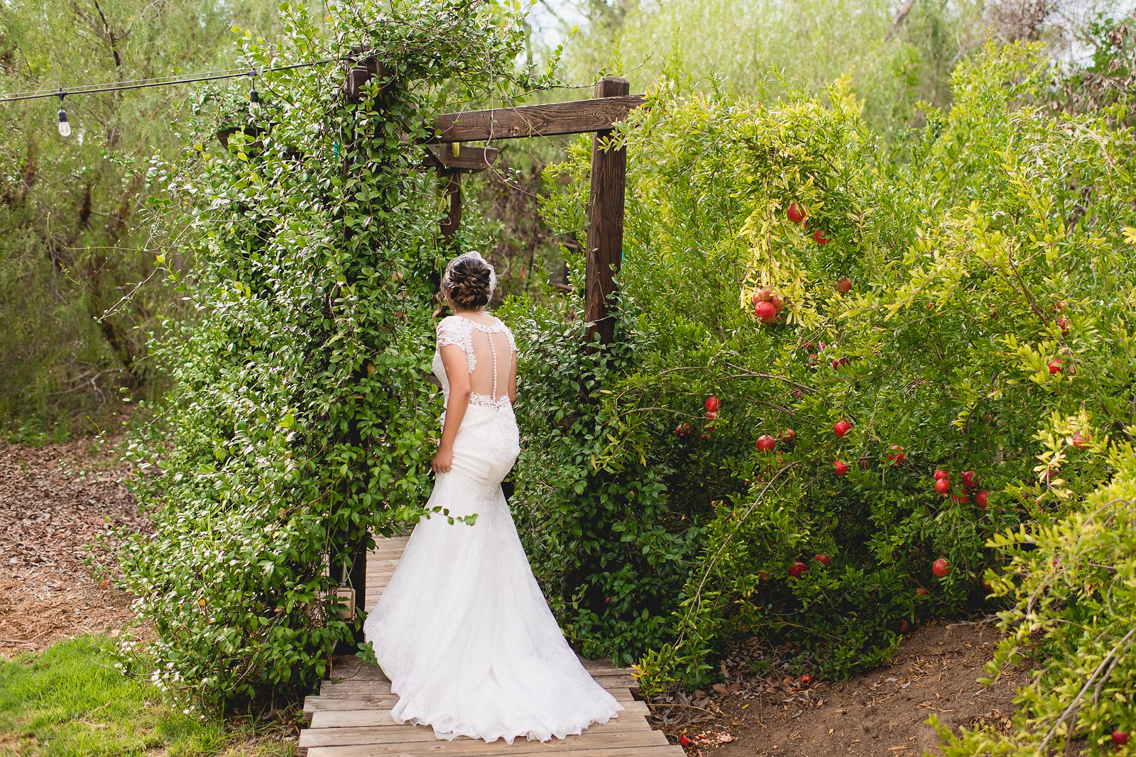
{"label": "weathered wooden boardwalk under the bride's white train", "polygon": [[[386,588],[402,556],[407,537],[377,540],[367,556],[367,597],[370,611]],[[619,716],[592,725],[578,735],[550,741],[520,738],[508,745],[458,737],[437,739],[427,725],[400,725],[391,718],[398,697],[377,665],[362,665],[352,656],[332,659],[328,680],[318,696],[303,703],[308,727],[300,732],[300,755],[307,757],[484,757],[487,755],[534,755],[556,752],[560,757],[683,757],[662,731],[646,721],[646,705],[632,696],[635,680],[627,668],[605,661],[582,659],[584,667],[623,704]]]}

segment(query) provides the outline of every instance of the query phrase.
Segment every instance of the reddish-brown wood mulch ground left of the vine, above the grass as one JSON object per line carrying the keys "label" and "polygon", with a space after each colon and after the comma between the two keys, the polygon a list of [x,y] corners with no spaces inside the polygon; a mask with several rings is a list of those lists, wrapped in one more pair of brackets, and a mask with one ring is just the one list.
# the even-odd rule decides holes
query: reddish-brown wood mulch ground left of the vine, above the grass
{"label": "reddish-brown wood mulch ground left of the vine, above the grass", "polygon": [[97,535],[116,525],[147,530],[125,472],[92,440],[0,443],[0,655],[86,631],[116,634],[130,620],[130,595],[105,588],[83,564]]}

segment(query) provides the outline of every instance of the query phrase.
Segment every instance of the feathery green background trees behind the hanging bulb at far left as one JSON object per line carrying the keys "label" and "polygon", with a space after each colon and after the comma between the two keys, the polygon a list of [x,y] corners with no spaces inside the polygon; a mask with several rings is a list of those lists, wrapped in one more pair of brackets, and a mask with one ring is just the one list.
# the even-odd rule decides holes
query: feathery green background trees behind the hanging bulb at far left
{"label": "feathery green background trees behind the hanging bulb at far left", "polygon": [[[0,5],[0,91],[127,82],[228,68],[229,26],[269,33],[249,0],[15,0]],[[247,90],[247,84],[240,85]],[[182,141],[187,86],[0,104],[0,422],[35,436],[150,389],[147,333],[177,310],[154,278],[142,215],[152,154]],[[150,279],[150,285],[136,285]],[[111,405],[117,406],[117,403]]]}

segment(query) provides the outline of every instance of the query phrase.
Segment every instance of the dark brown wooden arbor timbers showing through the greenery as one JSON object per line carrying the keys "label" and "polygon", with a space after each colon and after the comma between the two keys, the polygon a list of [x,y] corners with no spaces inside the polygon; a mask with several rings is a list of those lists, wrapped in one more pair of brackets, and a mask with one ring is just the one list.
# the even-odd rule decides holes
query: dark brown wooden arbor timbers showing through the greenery
{"label": "dark brown wooden arbor timbers showing through the greenery", "polygon": [[[348,100],[358,102],[362,86],[378,76],[382,65],[361,60],[349,69],[344,82]],[[434,119],[434,136],[426,141],[426,165],[438,171],[450,205],[442,221],[442,234],[452,238],[461,224],[461,174],[488,168],[498,157],[490,146],[463,146],[466,142],[493,142],[560,134],[592,136],[592,175],[587,207],[587,249],[584,285],[585,339],[588,348],[610,344],[615,337],[612,300],[615,277],[623,266],[624,201],[627,177],[627,151],[611,143],[616,125],[635,108],[644,104],[642,95],[632,95],[630,84],[621,77],[607,77],[595,85],[590,100],[517,108],[471,110],[444,113]],[[454,149],[453,145],[462,145]],[[362,606],[367,589],[367,546],[354,547],[350,571],[356,607]],[[358,609],[356,609],[358,612]],[[354,638],[362,642],[361,623]]]}

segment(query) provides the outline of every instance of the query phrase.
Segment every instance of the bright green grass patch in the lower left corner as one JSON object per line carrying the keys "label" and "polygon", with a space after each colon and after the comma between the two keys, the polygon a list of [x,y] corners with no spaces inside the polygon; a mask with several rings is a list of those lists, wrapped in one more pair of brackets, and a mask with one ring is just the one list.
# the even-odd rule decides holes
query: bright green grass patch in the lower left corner
{"label": "bright green grass patch in the lower left corner", "polygon": [[0,755],[258,755],[287,757],[289,729],[202,720],[115,668],[114,641],[84,634],[0,659]]}

